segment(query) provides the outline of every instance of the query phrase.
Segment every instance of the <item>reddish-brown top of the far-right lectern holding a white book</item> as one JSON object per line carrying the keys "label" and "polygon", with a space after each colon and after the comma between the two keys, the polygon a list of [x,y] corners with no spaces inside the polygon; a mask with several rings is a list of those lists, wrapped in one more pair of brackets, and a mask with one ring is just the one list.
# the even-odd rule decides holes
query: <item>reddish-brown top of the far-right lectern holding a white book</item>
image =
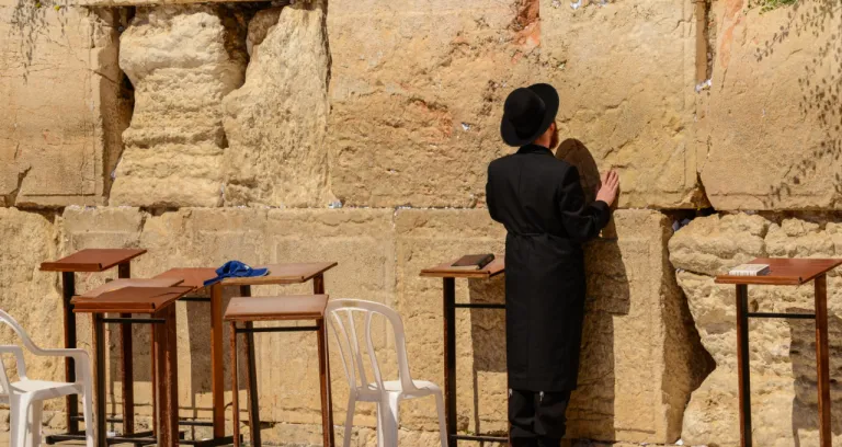
{"label": "reddish-brown top of the far-right lectern holding a white book", "polygon": [[769,264],[770,273],[761,276],[719,275],[716,284],[799,286],[842,265],[842,260],[758,257],[748,264]]}

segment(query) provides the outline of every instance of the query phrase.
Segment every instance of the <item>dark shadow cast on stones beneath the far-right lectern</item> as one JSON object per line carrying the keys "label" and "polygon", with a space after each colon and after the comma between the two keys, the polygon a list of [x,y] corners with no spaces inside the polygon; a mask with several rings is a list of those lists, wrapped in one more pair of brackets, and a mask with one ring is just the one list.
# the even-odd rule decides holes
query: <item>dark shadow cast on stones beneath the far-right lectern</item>
{"label": "dark shadow cast on stones beneath the far-right lectern", "polygon": [[[812,308],[787,309],[790,313],[812,313]],[[803,437],[799,432],[815,432],[818,437],[818,388],[816,368],[816,325],[812,320],[789,320],[789,357],[793,362],[793,376],[795,379],[795,397],[793,399],[793,440],[795,447],[801,447]],[[842,319],[833,314],[828,316],[828,347],[830,358],[830,398],[832,405],[842,404]],[[831,432],[833,435],[842,434],[842,419],[833,417],[831,410]],[[806,442],[804,445],[811,445]]]}

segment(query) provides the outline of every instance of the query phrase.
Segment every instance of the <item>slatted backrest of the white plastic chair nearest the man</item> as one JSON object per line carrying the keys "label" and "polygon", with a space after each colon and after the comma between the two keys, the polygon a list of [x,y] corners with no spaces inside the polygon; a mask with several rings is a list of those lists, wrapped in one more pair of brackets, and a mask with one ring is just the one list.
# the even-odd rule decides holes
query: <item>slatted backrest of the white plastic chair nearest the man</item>
{"label": "slatted backrest of the white plastic chair nearest the man", "polygon": [[[345,376],[351,388],[366,387],[369,381],[365,374],[365,362],[363,354],[367,354],[374,382],[378,389],[383,387],[383,376],[377,362],[377,355],[374,351],[372,341],[372,317],[380,314],[390,323],[395,333],[395,349],[398,359],[398,378],[400,379],[403,391],[414,391],[416,386],[409,374],[409,363],[407,360],[406,336],[403,334],[403,322],[398,312],[386,305],[374,301],[364,301],[360,299],[335,299],[328,302],[327,313],[330,324],[333,328],[333,334],[337,336],[340,355],[342,356],[342,367],[345,369]],[[365,337],[365,352],[360,345],[357,336],[355,313],[364,316],[363,335]],[[344,344],[343,344],[344,342]],[[346,347],[345,347],[346,346]],[[346,352],[345,349],[350,351]]]}

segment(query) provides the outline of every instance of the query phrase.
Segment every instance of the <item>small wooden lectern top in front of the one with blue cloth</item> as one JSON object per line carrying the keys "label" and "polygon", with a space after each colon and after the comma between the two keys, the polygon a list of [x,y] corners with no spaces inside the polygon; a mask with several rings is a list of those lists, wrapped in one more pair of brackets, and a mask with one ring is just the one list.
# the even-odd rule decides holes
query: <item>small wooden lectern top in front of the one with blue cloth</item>
{"label": "small wooden lectern top in front of the one with blue cloth", "polygon": [[325,317],[327,295],[231,298],[225,321],[318,320]]}

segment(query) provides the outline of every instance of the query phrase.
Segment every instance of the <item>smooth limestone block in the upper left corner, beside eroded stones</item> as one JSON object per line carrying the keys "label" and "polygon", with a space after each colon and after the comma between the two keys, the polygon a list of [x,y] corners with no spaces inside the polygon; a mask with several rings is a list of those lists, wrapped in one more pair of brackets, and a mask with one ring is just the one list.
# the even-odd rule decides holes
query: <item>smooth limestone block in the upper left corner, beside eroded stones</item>
{"label": "smooth limestone block in the upper left corner, beside eroded stones", "polygon": [[0,2],[0,206],[98,205],[130,99],[118,18],[53,2]]}

